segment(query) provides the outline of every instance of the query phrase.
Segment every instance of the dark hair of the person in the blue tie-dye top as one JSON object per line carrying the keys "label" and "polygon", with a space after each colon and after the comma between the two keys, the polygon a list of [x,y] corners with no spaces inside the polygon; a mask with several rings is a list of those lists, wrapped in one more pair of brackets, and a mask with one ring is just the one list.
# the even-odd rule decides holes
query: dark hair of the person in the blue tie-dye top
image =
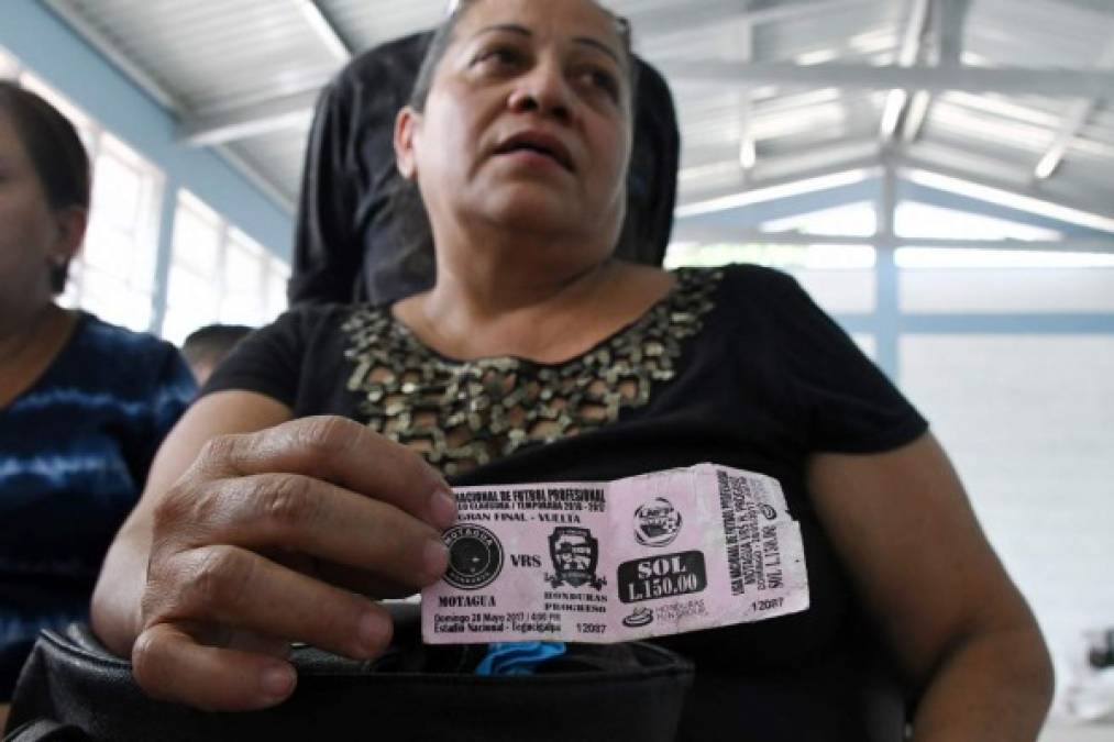
{"label": "dark hair of the person in the blue tie-dye top", "polygon": [[[40,96],[10,80],[0,80],[0,114],[11,118],[50,207],[89,208],[89,155],[69,119]],[[56,294],[66,289],[68,273],[69,261],[51,265],[50,289]]]}

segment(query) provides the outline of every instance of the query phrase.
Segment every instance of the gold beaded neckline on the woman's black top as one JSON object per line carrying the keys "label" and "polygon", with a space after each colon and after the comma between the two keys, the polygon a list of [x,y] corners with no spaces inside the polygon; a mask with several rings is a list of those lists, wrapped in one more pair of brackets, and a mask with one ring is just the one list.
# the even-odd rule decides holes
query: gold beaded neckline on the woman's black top
{"label": "gold beaded neckline on the woman's black top", "polygon": [[348,388],[368,427],[419,451],[447,475],[615,421],[675,374],[681,343],[700,332],[721,271],[677,272],[638,320],[563,363],[446,359],[394,320],[360,307],[343,325]]}

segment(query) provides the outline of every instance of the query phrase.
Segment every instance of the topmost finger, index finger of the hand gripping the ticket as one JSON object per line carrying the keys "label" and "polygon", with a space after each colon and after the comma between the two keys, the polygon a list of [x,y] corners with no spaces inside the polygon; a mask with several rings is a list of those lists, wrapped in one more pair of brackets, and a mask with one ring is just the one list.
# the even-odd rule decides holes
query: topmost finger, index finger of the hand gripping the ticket
{"label": "topmost finger, index finger of the hand gripping the ticket", "polygon": [[407,447],[339,417],[291,420],[212,439],[198,466],[212,478],[301,473],[390,502],[444,529],[457,517],[444,479]]}

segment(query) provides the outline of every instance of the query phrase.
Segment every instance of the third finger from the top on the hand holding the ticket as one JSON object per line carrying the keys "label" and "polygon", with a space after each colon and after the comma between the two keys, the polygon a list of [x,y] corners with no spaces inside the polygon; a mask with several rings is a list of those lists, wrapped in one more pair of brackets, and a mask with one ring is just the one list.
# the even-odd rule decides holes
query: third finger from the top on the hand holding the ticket
{"label": "third finger from the top on the hand holding the ticket", "polygon": [[[193,622],[285,641],[301,641],[350,657],[380,654],[391,638],[390,614],[363,596],[328,585],[232,546],[209,546],[160,565],[149,624]],[[155,605],[157,603],[157,605]]]}

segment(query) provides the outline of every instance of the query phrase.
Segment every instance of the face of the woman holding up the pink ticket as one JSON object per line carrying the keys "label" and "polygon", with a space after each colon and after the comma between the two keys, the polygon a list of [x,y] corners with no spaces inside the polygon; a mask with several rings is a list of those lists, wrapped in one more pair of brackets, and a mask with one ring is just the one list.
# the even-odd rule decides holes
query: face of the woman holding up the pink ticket
{"label": "face of the woman holding up the pink ticket", "polygon": [[426,104],[399,118],[399,167],[439,221],[614,245],[626,204],[631,89],[614,21],[588,0],[482,0]]}

